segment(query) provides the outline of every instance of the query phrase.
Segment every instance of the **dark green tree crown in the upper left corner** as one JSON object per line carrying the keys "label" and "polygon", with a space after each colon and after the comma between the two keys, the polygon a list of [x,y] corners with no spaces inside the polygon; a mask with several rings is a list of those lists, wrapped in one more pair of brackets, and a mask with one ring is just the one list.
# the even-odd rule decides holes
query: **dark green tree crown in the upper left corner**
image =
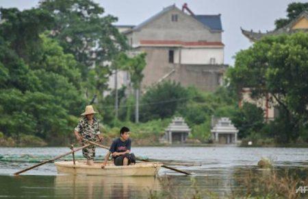
{"label": "dark green tree crown in the upper left corner", "polygon": [[33,8],[19,11],[16,8],[0,8],[0,35],[16,54],[29,64],[41,54],[40,33],[53,24],[53,17],[45,10]]}

